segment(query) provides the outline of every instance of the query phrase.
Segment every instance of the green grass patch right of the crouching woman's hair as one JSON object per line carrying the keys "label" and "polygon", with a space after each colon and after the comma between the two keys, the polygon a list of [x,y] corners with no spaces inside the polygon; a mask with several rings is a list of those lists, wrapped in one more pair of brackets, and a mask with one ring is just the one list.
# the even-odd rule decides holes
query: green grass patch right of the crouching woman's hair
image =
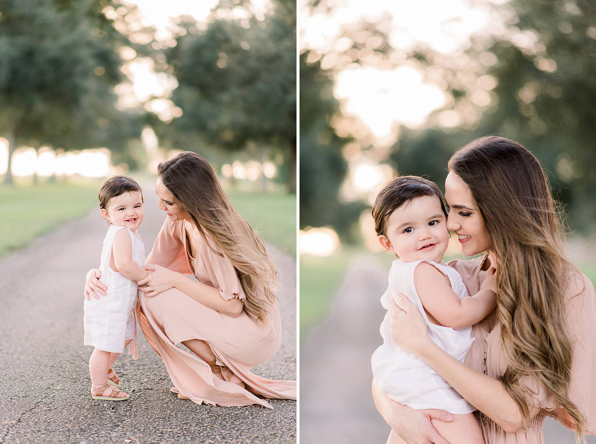
{"label": "green grass patch right of the crouching woman's hair", "polygon": [[231,191],[234,208],[265,239],[296,257],[296,195]]}

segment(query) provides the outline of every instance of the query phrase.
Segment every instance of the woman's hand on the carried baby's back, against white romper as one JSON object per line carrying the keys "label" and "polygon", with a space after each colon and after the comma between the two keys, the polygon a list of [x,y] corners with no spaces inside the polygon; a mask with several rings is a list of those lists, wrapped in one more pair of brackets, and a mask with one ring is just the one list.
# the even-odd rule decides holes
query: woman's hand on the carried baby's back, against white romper
{"label": "woman's hand on the carried baby's back, against white romper", "polygon": [[434,344],[427,333],[426,322],[406,295],[398,293],[396,299],[402,308],[393,299],[389,301],[391,338],[403,351],[420,356],[429,348],[429,343]]}

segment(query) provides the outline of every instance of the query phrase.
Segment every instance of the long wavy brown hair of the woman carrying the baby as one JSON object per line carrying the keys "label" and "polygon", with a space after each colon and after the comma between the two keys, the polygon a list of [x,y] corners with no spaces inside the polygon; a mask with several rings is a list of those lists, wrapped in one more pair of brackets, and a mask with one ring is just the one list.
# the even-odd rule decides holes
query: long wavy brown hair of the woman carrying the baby
{"label": "long wavy brown hair of the woman carrying the baby", "polygon": [[508,364],[501,382],[525,421],[535,395],[527,384],[541,383],[581,437],[585,417],[568,393],[573,343],[566,289],[575,267],[564,254],[565,233],[547,177],[531,152],[497,136],[455,152],[449,170],[470,187],[498,263],[497,307]]}

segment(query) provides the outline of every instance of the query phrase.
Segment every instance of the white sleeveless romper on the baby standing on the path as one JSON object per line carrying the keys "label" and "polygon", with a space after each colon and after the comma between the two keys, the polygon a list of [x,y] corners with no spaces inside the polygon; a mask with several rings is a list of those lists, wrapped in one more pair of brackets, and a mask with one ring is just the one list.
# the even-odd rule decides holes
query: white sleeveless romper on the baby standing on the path
{"label": "white sleeveless romper on the baby standing on the path", "polygon": [[85,345],[106,352],[122,353],[124,342],[134,339],[129,354],[136,359],[136,318],[134,308],[138,285],[134,280],[110,268],[111,248],[119,230],[127,230],[132,241],[132,259],[145,265],[145,246],[127,227],[111,225],[105,234],[101,251],[101,282],[107,287],[105,296],[85,299]]}

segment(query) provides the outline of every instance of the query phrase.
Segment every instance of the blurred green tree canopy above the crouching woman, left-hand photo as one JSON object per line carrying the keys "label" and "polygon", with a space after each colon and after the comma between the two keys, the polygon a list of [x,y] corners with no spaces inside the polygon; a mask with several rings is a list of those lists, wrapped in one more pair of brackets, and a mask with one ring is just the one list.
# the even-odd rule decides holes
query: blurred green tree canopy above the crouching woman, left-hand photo
{"label": "blurred green tree canopy above the crouching woman, left-hand photo", "polygon": [[198,142],[252,149],[259,160],[281,153],[296,192],[296,5],[273,3],[262,20],[213,18],[204,30],[190,17],[179,23],[184,32],[165,54],[179,85],[171,99],[182,115],[158,135],[191,151],[204,148]]}

